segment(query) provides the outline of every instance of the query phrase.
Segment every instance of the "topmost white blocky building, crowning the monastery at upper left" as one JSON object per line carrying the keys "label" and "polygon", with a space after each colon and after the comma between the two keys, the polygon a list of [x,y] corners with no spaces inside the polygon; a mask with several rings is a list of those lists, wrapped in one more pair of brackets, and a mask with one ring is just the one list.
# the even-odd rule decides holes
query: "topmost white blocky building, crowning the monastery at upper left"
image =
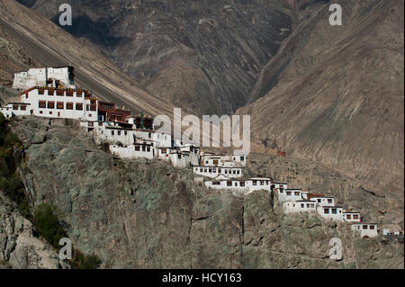
{"label": "topmost white blocky building, crowning the monastery at upper left", "polygon": [[26,90],[37,85],[75,89],[73,67],[30,68],[14,74],[14,89]]}

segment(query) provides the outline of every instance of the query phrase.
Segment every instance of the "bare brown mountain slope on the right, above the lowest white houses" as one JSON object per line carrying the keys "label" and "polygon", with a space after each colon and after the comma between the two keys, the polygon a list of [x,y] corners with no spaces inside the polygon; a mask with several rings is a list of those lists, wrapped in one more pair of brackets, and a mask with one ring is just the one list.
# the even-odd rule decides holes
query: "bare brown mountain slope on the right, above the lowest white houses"
{"label": "bare brown mountain slope on the right, above the lowest white houses", "polygon": [[302,22],[268,64],[258,100],[237,113],[252,115],[257,143],[403,201],[403,1],[339,3],[343,26],[329,25],[328,7]]}

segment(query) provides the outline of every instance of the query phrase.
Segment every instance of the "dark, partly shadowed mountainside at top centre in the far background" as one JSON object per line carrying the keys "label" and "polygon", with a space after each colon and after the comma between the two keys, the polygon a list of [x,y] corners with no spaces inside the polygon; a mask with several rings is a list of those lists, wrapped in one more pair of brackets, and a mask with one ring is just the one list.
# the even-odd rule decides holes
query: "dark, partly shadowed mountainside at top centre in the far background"
{"label": "dark, partly shadowed mountainside at top centre in the far background", "polygon": [[[22,3],[58,22],[63,0]],[[92,41],[155,94],[197,114],[245,105],[260,69],[291,32],[283,0],[73,0],[77,38]]]}

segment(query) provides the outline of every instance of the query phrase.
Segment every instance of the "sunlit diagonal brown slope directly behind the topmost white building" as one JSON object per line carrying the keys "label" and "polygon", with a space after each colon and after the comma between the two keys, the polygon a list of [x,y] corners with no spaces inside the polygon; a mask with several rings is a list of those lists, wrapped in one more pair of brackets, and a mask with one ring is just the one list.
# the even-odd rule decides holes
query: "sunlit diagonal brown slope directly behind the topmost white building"
{"label": "sunlit diagonal brown slope directly behind the topmost white building", "polygon": [[[23,47],[24,53],[31,55],[41,66],[74,66],[76,82],[93,90],[94,95],[125,105],[133,112],[143,110],[151,114],[173,113],[171,104],[162,102],[156,95],[139,87],[107,58],[22,4],[14,0],[1,0],[0,24],[8,39],[11,37],[16,40],[14,45]],[[17,49],[16,52],[4,51],[9,57],[20,57],[20,50]],[[9,81],[14,68],[7,65],[8,62],[0,63],[2,73],[8,73],[4,76]]]}

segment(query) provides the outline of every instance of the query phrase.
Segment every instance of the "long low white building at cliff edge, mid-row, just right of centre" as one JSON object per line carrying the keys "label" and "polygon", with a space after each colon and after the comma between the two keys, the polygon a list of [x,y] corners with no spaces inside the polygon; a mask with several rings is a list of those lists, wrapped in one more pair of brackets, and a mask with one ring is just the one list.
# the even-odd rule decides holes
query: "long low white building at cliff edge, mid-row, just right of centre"
{"label": "long low white building at cliff edge, mid-row, just right of centre", "polygon": [[248,180],[229,179],[206,181],[204,185],[212,190],[229,190],[241,193],[253,193],[258,190],[266,190],[270,192],[270,178],[251,178]]}

